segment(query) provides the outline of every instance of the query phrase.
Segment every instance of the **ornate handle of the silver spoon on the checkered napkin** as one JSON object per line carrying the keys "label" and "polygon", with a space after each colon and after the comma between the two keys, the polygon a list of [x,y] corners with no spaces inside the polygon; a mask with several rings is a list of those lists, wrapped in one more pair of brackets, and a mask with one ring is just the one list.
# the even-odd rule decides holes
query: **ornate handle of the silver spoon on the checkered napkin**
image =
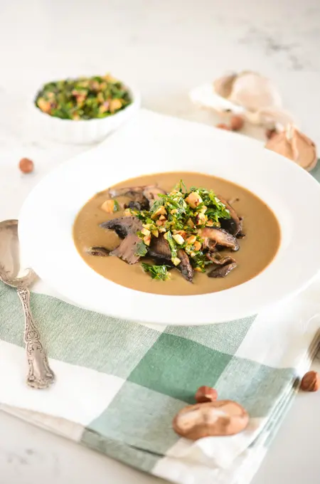
{"label": "ornate handle of the silver spoon on the checkered napkin", "polygon": [[48,388],[53,383],[55,375],[49,367],[40,334],[31,315],[30,291],[28,288],[18,288],[17,293],[22,302],[25,317],[24,342],[28,358],[27,384],[37,389]]}

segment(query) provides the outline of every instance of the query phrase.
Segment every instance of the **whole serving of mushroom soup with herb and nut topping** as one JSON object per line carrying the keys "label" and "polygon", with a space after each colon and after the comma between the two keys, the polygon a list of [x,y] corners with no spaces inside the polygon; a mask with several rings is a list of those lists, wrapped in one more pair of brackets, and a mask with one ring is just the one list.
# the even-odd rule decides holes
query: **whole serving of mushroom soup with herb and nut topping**
{"label": "whole serving of mushroom soup with herb and nut topping", "polygon": [[82,207],[73,227],[84,261],[146,293],[196,295],[245,283],[277,253],[279,223],[247,189],[206,174],[123,181]]}

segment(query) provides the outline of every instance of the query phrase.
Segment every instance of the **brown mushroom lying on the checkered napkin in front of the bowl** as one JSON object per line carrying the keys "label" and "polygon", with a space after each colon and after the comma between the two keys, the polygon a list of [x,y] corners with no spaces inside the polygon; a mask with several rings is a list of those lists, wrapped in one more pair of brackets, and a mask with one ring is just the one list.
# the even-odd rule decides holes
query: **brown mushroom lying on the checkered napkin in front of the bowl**
{"label": "brown mushroom lying on the checkered napkin in front of the bowl", "polygon": [[216,400],[189,405],[175,416],[172,426],[178,435],[192,441],[208,436],[231,436],[249,422],[247,411],[235,401]]}

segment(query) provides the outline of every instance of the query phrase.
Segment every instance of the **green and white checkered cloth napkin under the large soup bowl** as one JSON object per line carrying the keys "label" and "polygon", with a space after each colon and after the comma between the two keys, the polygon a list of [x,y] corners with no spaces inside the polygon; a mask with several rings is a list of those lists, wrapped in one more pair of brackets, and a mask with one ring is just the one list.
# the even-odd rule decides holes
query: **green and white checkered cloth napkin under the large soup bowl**
{"label": "green and white checkered cloth napkin under the large soup bowl", "polygon": [[[57,379],[35,391],[25,384],[18,297],[0,283],[0,409],[174,483],[247,484],[316,352],[319,295],[320,279],[257,317],[152,327],[70,305],[40,285],[31,305]],[[247,409],[244,432],[196,442],[174,433],[174,415],[201,385]]]}

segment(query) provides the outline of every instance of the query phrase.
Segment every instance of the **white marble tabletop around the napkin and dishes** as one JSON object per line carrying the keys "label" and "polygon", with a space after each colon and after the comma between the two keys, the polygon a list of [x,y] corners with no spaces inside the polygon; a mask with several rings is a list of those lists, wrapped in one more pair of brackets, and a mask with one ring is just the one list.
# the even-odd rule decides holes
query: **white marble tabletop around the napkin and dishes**
{"label": "white marble tabletop around the napkin and dishes", "polygon": [[[137,85],[144,107],[215,124],[188,90],[258,70],[320,147],[319,0],[0,0],[0,41],[0,219],[17,218],[41,177],[85,149],[41,140],[28,123],[43,80],[110,71]],[[21,157],[33,174],[18,171]],[[298,396],[253,484],[319,479],[319,409],[320,392]],[[159,480],[0,413],[0,483],[37,482]]]}

